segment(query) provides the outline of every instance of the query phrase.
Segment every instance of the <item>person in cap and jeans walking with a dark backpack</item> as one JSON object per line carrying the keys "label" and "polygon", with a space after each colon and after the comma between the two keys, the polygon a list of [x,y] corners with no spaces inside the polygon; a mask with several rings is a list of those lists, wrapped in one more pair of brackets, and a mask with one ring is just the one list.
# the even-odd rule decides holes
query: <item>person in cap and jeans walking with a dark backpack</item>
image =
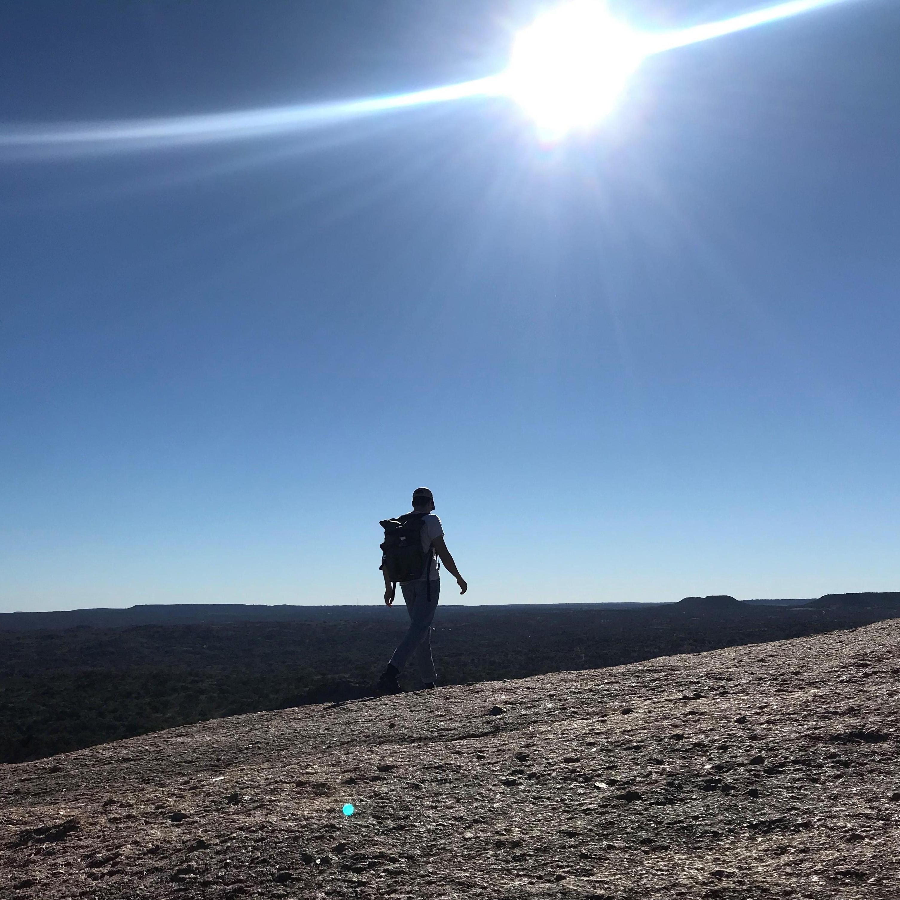
{"label": "person in cap and jeans walking with a dark backpack", "polygon": [[[444,528],[441,527],[441,520],[433,515],[434,509],[435,499],[431,491],[428,488],[416,488],[412,492],[412,512],[382,522],[385,533],[385,542],[382,545],[384,602],[387,606],[392,606],[396,583],[399,582],[407,612],[410,614],[410,629],[397,645],[391,662],[378,681],[380,693],[396,694],[401,691],[397,679],[413,654],[419,663],[419,676],[423,685],[426,688],[436,686],[437,672],[431,656],[431,623],[435,617],[437,599],[441,591],[437,560],[444,563],[446,571],[454,576],[461,594],[468,589],[463,576],[456,569],[453,556],[447,550]],[[404,542],[408,540],[410,533],[414,534],[417,529],[420,534],[421,552],[419,547],[411,548],[410,552],[410,548],[404,547]],[[420,574],[402,580],[404,575],[411,576],[415,572]],[[392,580],[392,575],[398,575],[396,582]]]}

